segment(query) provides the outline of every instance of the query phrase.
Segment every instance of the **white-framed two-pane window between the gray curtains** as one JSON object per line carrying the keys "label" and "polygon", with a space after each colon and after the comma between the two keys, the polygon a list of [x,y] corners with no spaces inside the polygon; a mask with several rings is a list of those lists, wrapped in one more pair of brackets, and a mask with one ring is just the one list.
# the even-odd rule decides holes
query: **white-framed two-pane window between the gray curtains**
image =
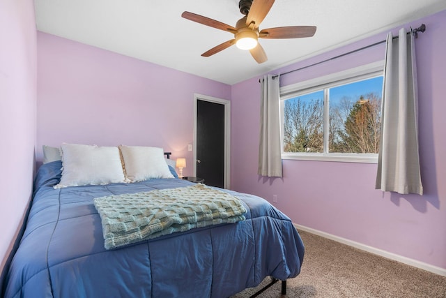
{"label": "white-framed two-pane window between the gray curtains", "polygon": [[376,163],[383,62],[281,88],[282,158]]}

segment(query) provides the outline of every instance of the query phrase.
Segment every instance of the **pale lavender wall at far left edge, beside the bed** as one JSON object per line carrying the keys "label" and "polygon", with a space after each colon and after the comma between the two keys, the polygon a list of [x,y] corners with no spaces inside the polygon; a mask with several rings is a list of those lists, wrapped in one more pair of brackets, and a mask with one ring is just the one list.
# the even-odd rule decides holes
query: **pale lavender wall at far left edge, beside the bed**
{"label": "pale lavender wall at far left edge, beside the bed", "polygon": [[0,1],[0,272],[31,197],[36,61],[33,1]]}

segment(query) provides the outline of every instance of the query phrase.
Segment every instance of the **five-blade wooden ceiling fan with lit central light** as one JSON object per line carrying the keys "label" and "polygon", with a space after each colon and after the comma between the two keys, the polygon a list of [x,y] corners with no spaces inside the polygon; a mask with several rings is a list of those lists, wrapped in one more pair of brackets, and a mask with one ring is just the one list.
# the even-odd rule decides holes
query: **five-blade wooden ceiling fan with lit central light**
{"label": "five-blade wooden ceiling fan with lit central light", "polygon": [[268,60],[268,58],[266,57],[265,50],[263,50],[263,47],[258,42],[259,38],[302,38],[314,36],[314,33],[316,33],[316,27],[314,26],[276,27],[259,31],[259,25],[270,11],[274,1],[240,0],[238,8],[240,8],[240,13],[245,16],[238,20],[236,27],[188,11],[185,11],[181,16],[187,20],[234,34],[233,39],[213,47],[201,54],[201,56],[212,56],[235,44],[242,50],[249,50],[257,63],[261,64]]}

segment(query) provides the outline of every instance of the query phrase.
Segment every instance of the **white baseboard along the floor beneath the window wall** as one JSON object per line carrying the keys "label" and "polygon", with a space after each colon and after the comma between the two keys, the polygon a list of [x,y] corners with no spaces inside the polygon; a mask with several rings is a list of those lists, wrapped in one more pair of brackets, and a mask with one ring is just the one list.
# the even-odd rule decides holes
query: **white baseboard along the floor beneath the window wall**
{"label": "white baseboard along the floor beneath the window wall", "polygon": [[410,265],[410,266],[413,266],[413,267],[417,267],[417,268],[420,268],[420,269],[432,272],[434,274],[438,274],[440,276],[446,276],[446,269],[445,268],[433,266],[433,265],[430,265],[430,264],[427,264],[427,263],[424,263],[424,262],[420,262],[420,261],[417,261],[417,260],[406,258],[406,257],[403,257],[402,255],[397,255],[396,253],[389,253],[388,251],[383,251],[382,249],[379,249],[379,248],[374,248],[372,246],[361,244],[359,242],[355,242],[355,241],[352,241],[352,240],[349,240],[349,239],[346,239],[346,238],[338,237],[338,236],[335,236],[333,234],[328,234],[326,232],[321,232],[319,230],[314,230],[312,228],[305,227],[304,225],[298,225],[297,223],[293,223],[293,225],[298,230],[302,230],[302,231],[305,231],[305,232],[316,234],[318,236],[321,236],[321,237],[324,237],[324,238],[327,238],[327,239],[330,239],[330,240],[333,240],[333,241],[337,241],[337,242],[339,242],[341,244],[346,244],[348,246],[353,246],[354,248],[358,248],[358,249],[360,249],[362,251],[367,251],[369,253],[374,253],[375,255],[380,255],[381,257],[384,257],[384,258],[387,258],[387,259],[390,259],[390,260],[394,260],[394,261],[397,261],[397,262],[401,262],[403,264]]}

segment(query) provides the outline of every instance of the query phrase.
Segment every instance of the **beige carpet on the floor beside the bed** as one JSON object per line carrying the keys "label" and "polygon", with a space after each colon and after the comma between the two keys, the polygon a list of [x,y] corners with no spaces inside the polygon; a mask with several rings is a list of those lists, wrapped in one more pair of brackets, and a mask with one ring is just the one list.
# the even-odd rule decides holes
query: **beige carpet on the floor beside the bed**
{"label": "beige carpet on the floor beside the bed", "polygon": [[[446,297],[446,277],[381,258],[336,241],[299,231],[305,244],[302,271],[258,297]],[[249,297],[263,285],[233,298]]]}

